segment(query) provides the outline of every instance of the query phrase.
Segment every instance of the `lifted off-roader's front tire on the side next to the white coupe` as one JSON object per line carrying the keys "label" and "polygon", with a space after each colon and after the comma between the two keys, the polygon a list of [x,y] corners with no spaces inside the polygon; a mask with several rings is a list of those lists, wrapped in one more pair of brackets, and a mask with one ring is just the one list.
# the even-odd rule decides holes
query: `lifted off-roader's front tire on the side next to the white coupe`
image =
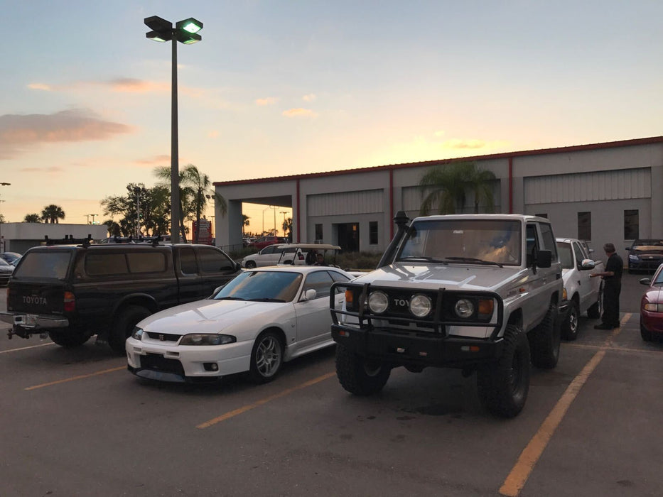
{"label": "lifted off-roader's front tire on the side next to the white coupe", "polygon": [[338,382],[354,395],[373,395],[384,388],[392,373],[389,364],[370,361],[345,346],[336,346],[336,376]]}

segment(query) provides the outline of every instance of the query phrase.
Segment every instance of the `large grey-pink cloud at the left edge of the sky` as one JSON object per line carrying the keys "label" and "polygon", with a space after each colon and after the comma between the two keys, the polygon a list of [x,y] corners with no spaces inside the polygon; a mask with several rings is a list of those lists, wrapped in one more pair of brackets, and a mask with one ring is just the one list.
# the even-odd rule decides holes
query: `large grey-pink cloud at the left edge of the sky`
{"label": "large grey-pink cloud at the left edge of the sky", "polygon": [[55,114],[4,114],[0,116],[0,160],[14,158],[43,143],[109,140],[132,131],[131,126],[104,121],[82,109]]}

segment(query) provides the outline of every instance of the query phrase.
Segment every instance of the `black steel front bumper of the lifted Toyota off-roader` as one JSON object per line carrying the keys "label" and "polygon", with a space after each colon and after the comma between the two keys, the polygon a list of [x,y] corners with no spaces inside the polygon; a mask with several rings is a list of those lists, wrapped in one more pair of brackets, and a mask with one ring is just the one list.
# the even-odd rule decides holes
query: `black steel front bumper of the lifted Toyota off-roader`
{"label": "black steel front bumper of the lifted Toyota off-roader", "polygon": [[334,341],[370,359],[394,365],[463,368],[497,359],[503,339],[445,337],[376,327],[332,324]]}

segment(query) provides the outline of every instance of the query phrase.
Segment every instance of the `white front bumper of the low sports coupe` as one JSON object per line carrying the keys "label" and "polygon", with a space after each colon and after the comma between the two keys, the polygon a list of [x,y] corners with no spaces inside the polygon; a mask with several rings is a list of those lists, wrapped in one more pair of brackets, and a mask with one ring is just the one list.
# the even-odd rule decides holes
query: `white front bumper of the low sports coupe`
{"label": "white front bumper of the low sports coupe", "polygon": [[[177,346],[157,340],[126,339],[127,368],[159,381],[217,381],[249,371],[252,341],[215,346]],[[215,366],[212,366],[215,365]]]}

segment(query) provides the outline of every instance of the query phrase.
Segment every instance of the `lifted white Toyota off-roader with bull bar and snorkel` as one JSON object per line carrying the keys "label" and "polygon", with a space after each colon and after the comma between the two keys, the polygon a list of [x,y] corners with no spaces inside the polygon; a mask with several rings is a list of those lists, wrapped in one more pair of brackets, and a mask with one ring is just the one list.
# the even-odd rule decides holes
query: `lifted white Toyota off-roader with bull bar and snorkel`
{"label": "lifted white Toyota off-roader with bull bar and snorkel", "polygon": [[[531,365],[559,358],[561,264],[548,219],[519,214],[394,218],[399,229],[375,271],[330,298],[336,373],[371,395],[392,368],[477,372],[493,415],[524,407]],[[335,292],[332,292],[333,296]]]}

